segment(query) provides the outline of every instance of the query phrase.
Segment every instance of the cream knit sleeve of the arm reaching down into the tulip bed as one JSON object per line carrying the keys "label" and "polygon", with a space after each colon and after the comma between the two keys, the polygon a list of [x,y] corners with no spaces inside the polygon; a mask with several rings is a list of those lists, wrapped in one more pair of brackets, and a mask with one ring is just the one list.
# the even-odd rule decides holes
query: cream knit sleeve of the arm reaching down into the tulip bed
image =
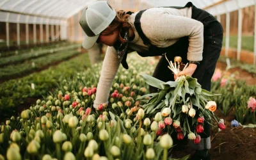
{"label": "cream knit sleeve of the arm reaching down into the tulip bed", "polygon": [[93,108],[97,108],[99,104],[108,104],[110,88],[119,65],[120,61],[116,55],[115,48],[108,47],[100,72],[100,79],[97,86],[96,97],[93,101]]}

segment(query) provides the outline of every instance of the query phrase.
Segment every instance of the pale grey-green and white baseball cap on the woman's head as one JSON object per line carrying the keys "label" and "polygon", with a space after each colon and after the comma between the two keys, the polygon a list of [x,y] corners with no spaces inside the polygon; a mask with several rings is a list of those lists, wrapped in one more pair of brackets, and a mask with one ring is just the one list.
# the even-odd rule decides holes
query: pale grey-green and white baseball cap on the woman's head
{"label": "pale grey-green and white baseball cap on the woman's head", "polygon": [[115,17],[116,11],[109,6],[107,1],[97,1],[83,10],[79,24],[86,34],[82,44],[84,49],[92,48],[100,33],[111,24]]}

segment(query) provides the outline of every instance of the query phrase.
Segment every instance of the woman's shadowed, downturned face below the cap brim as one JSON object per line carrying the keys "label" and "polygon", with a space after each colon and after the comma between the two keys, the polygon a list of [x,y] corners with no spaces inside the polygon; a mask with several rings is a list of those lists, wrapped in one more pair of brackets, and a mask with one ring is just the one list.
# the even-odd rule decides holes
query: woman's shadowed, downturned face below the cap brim
{"label": "woman's shadowed, downturned face below the cap brim", "polygon": [[118,40],[118,30],[116,29],[111,33],[110,35],[100,35],[97,44],[102,43],[108,46],[113,46],[116,43],[116,40]]}

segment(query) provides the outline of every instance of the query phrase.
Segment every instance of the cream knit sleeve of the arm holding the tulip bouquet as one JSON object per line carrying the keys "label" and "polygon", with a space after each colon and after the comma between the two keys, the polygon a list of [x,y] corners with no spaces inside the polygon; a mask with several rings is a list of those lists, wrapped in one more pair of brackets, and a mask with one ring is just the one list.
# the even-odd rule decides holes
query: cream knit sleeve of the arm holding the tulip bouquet
{"label": "cream knit sleeve of the arm holding the tulip bouquet", "polygon": [[188,36],[188,60],[201,61],[204,48],[202,22],[189,17],[172,15],[160,9],[156,11],[148,10],[141,16],[141,29],[152,44],[161,46],[168,43],[168,40]]}

